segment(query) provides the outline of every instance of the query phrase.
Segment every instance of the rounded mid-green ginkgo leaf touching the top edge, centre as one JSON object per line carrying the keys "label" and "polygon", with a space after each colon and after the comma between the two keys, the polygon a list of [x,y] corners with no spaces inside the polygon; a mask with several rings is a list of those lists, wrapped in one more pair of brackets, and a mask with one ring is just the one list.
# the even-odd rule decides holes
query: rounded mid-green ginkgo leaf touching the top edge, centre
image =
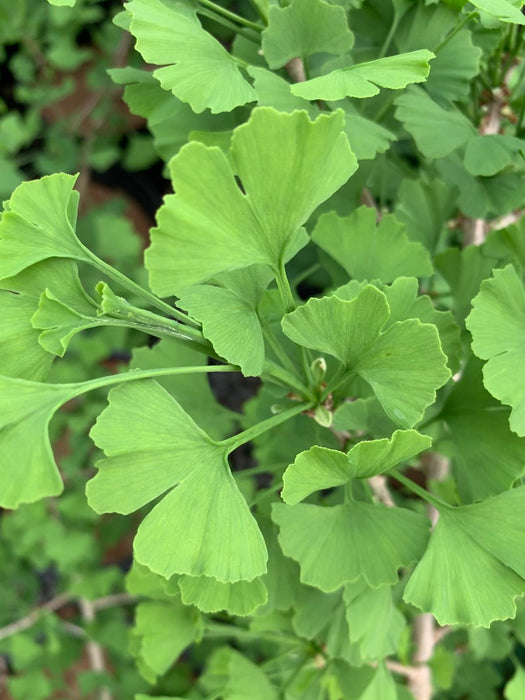
{"label": "rounded mid-green ginkgo leaf touching the top edge, centre", "polygon": [[288,7],[273,5],[262,33],[262,52],[270,68],[281,68],[292,58],[315,53],[350,51],[354,36],[346,12],[325,0],[292,0]]}

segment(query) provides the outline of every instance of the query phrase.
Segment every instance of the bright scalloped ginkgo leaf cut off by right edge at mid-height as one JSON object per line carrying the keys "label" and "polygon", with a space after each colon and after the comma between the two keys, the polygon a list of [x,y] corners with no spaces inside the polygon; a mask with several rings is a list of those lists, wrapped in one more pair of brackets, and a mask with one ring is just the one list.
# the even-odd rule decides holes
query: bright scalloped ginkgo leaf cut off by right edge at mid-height
{"label": "bright scalloped ginkgo leaf cut off by right edge at mid-height", "polygon": [[494,270],[472,300],[466,320],[472,349],[482,360],[483,382],[492,396],[512,407],[511,430],[525,436],[525,290],[512,265]]}

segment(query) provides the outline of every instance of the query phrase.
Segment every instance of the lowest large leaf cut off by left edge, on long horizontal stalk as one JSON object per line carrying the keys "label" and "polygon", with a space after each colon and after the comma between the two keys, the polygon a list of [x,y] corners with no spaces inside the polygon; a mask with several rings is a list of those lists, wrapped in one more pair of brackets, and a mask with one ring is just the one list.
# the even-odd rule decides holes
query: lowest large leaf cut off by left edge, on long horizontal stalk
{"label": "lowest large leaf cut off by left edge, on long horizontal stalk", "polygon": [[2,507],[16,508],[20,503],[57,496],[62,491],[47,431],[54,413],[77,393],[76,385],[39,384],[0,376]]}

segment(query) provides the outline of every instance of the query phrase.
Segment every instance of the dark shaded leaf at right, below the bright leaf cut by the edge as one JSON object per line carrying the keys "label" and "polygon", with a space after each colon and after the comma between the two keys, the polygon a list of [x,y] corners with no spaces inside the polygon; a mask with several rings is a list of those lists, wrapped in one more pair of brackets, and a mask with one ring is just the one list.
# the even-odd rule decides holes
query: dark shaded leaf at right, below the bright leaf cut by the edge
{"label": "dark shaded leaf at right, below the bright leaf cut by the edge", "polygon": [[525,439],[511,432],[509,413],[485,391],[481,362],[471,358],[440,413],[451,449],[442,441],[439,450],[454,460],[463,502],[502,493],[523,474]]}

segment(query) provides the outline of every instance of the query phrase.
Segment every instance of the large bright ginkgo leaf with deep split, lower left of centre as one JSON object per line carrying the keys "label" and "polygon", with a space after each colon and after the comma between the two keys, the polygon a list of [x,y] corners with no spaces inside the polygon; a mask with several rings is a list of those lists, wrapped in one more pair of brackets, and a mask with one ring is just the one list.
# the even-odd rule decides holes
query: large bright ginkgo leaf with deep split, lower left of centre
{"label": "large bright ginkgo leaf with deep split, lower left of centre", "polygon": [[227,447],[159,384],[113,389],[91,436],[107,455],[87,486],[97,512],[132,513],[164,496],[137,531],[139,563],[166,578],[204,575],[223,583],[265,573],[264,539],[230,472]]}

